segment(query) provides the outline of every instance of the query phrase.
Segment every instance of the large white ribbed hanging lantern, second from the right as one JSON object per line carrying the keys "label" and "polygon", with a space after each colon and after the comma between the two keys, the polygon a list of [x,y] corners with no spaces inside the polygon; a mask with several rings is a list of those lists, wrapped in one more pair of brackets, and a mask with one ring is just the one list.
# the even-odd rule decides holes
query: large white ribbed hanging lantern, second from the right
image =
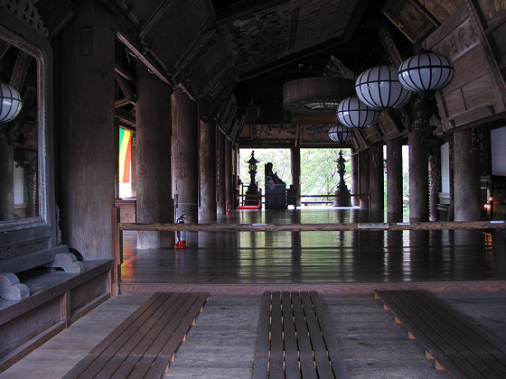
{"label": "large white ribbed hanging lantern, second from the right", "polygon": [[411,95],[398,81],[398,69],[385,65],[362,72],[355,82],[355,91],[362,103],[375,109],[406,105]]}

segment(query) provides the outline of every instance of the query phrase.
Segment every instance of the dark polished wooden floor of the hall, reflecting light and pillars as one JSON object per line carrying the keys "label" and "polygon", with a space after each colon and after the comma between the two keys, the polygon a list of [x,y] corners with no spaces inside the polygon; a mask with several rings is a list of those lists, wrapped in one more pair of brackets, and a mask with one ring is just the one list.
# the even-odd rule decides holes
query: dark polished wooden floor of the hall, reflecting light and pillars
{"label": "dark polished wooden floor of the hall, reflecting light and pillars", "polygon": [[[218,223],[383,221],[383,214],[357,208],[307,207],[235,210]],[[248,288],[251,293],[276,286],[351,291],[378,288],[379,283],[486,283],[495,290],[506,288],[506,239],[493,231],[192,232],[187,233],[187,244],[187,249],[139,250],[136,232],[125,232],[122,291],[147,291],[141,289],[148,284],[158,284],[158,290],[173,290],[169,284],[181,289],[207,285],[211,292],[235,285],[236,291]]]}

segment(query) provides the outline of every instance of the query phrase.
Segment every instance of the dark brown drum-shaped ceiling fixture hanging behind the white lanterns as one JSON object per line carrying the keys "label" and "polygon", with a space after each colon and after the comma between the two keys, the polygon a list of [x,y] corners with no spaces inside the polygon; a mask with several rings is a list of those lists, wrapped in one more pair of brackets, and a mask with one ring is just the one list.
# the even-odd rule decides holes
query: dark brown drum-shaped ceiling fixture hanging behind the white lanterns
{"label": "dark brown drum-shaped ceiling fixture hanging behind the white lanterns", "polygon": [[333,115],[340,101],[352,93],[352,79],[296,79],[283,86],[283,107],[294,113]]}

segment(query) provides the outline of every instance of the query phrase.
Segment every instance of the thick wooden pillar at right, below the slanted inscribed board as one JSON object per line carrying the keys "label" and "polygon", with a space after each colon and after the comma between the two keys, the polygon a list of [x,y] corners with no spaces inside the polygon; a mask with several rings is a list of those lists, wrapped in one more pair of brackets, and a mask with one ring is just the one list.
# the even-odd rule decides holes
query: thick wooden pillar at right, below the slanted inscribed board
{"label": "thick wooden pillar at right, below the slanted inscribed board", "polygon": [[454,214],[455,221],[480,219],[480,156],[471,129],[454,133]]}

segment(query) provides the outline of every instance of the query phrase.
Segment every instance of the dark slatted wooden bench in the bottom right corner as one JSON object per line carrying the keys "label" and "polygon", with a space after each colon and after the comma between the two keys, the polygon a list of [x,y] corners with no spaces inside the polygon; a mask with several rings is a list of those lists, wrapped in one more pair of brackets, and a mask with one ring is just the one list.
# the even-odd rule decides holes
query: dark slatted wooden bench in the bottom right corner
{"label": "dark slatted wooden bench in the bottom right corner", "polygon": [[410,338],[454,378],[505,378],[506,344],[429,291],[375,291]]}

